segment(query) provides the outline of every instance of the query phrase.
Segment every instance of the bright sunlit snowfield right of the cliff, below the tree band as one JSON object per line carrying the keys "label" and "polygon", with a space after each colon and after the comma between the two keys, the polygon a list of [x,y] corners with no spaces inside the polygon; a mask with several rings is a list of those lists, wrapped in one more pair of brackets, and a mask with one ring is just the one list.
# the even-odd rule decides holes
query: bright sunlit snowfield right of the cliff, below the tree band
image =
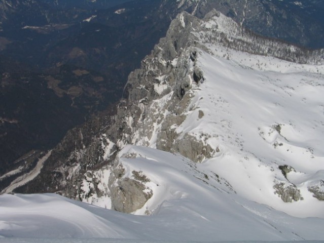
{"label": "bright sunlit snowfield right of the cliff, below the tree band", "polygon": [[[199,52],[205,81],[191,91],[195,98],[189,107],[199,107],[204,117],[197,119],[198,109],[188,111],[176,133],[208,134],[212,137],[208,143],[221,151],[197,167],[226,178],[251,201],[296,217],[324,217],[323,202],[307,190],[307,184],[322,178],[315,175],[324,170],[322,66],[234,51],[232,60]],[[241,58],[244,55],[250,57]],[[267,65],[259,68],[249,61],[258,58]],[[280,134],[274,129],[277,125]],[[299,172],[293,181],[304,200],[287,204],[274,194],[274,181],[286,181],[279,165]]]}

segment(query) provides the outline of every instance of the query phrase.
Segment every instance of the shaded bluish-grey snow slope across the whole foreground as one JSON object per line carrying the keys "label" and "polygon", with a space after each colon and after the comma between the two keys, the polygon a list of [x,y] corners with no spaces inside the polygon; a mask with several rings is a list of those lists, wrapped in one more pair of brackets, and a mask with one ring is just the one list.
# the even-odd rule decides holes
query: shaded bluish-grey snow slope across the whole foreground
{"label": "shaded bluish-grey snow slope across the whole foreground", "polygon": [[[317,218],[289,216],[233,193],[208,164],[157,149],[126,146],[120,152],[125,177],[140,170],[153,196],[137,216],[55,194],[0,196],[0,235],[36,238],[132,238],[143,240],[323,239],[323,209]],[[205,174],[206,173],[206,174]],[[0,239],[1,241],[2,239]]]}

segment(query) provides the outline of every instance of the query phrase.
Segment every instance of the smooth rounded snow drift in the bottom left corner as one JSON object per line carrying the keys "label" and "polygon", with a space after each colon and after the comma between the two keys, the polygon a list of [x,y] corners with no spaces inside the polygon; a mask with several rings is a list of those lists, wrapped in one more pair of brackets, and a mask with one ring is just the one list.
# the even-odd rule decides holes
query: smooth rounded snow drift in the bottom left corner
{"label": "smooth rounded snow drift in the bottom left corner", "polygon": [[5,237],[127,236],[123,230],[115,231],[113,223],[97,216],[95,207],[55,194],[5,194],[0,198],[0,235]]}

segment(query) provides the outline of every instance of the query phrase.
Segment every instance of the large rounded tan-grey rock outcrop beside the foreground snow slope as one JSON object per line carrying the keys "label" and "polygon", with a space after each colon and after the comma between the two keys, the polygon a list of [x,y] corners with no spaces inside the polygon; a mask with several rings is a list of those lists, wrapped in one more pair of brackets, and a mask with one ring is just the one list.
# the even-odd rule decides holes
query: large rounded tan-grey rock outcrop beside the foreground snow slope
{"label": "large rounded tan-grey rock outcrop beside the foreground snow slope", "polygon": [[125,170],[122,165],[118,165],[112,172],[109,179],[109,189],[111,191],[112,209],[131,213],[142,208],[148,199],[152,197],[152,191],[146,192],[143,184],[149,179],[139,172],[133,171],[132,178],[124,178]]}

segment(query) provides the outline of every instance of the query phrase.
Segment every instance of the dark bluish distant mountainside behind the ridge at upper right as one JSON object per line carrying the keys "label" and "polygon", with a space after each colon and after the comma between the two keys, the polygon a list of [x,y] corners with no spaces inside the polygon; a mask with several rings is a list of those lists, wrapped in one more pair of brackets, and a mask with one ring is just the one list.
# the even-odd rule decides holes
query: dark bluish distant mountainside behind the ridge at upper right
{"label": "dark bluish distant mountainside behind the ridge at upper right", "polygon": [[217,9],[261,35],[307,48],[324,47],[323,1],[184,0],[174,4],[198,17]]}

